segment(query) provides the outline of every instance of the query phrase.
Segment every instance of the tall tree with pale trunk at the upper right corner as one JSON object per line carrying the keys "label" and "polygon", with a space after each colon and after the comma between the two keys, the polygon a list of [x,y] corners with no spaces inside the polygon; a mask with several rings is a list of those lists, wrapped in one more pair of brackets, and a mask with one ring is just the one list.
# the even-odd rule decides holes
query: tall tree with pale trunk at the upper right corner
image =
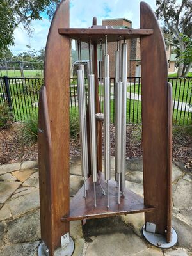
{"label": "tall tree with pale trunk at the upper right corner", "polygon": [[156,15],[163,21],[164,33],[171,34],[177,46],[178,76],[186,77],[191,68],[186,39],[192,35],[192,1],[182,0],[179,4],[177,0],[156,0],[156,6]]}

